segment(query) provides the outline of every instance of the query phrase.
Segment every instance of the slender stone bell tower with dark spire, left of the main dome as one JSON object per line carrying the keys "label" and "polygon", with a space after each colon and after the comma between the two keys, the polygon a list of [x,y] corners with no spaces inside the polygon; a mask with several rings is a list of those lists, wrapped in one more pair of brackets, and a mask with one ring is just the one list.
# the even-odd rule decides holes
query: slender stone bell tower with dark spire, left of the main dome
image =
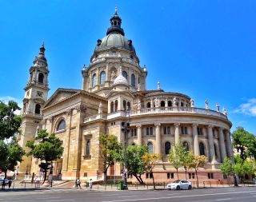
{"label": "slender stone bell tower with dark spire, left of the main dome", "polygon": [[[25,96],[22,107],[22,135],[19,138],[19,145],[26,148],[26,142],[34,139],[37,129],[41,129],[42,107],[47,101],[49,85],[49,69],[45,57],[44,42],[40,47],[38,56],[35,57],[30,67],[30,76],[25,89]],[[19,164],[19,173],[29,173],[31,168],[31,157],[23,157]]]}

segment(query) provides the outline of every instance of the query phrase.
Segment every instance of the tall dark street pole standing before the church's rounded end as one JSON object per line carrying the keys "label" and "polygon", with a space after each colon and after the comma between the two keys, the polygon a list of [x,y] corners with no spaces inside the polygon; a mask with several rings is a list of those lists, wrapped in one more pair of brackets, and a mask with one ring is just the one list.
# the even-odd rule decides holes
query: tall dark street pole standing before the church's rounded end
{"label": "tall dark street pole standing before the church's rounded end", "polygon": [[[129,110],[129,106],[126,105],[126,109],[125,109],[125,120],[122,121],[121,125],[122,125],[122,132],[124,133],[124,169],[123,169],[123,174],[124,174],[124,178],[123,178],[123,188],[124,189],[128,189],[127,187],[127,165],[126,165],[126,148],[127,148],[127,142],[128,142],[128,133],[130,132],[130,123],[128,122],[129,120],[127,120],[127,112]],[[129,113],[129,112],[128,112]]]}

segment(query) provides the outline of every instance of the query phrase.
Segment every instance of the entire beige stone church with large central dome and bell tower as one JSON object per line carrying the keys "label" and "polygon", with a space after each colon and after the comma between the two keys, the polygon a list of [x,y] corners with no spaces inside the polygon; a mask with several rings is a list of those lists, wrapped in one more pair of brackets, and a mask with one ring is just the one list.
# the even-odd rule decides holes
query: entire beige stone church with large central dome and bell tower
{"label": "entire beige stone church with large central dome and bell tower", "polygon": [[[64,153],[54,162],[54,175],[63,180],[95,178],[102,174],[99,137],[112,134],[125,141],[122,122],[129,120],[128,145],[147,145],[149,152],[162,156],[154,168],[156,180],[176,178],[168,162],[171,146],[178,141],[194,155],[206,155],[200,179],[223,179],[219,164],[233,158],[231,122],[226,109],[220,112],[195,107],[182,93],[146,89],[147,69],[140,65],[132,40],[125,37],[117,10],[110,18],[106,37],[98,39],[90,65],[82,69],[82,89],[57,89],[48,98],[49,69],[44,44],[30,68],[22,109],[19,144],[35,137],[38,129],[55,133],[63,142]],[[19,172],[39,172],[38,160],[24,157]],[[185,171],[179,169],[184,174]],[[111,165],[109,176],[119,176],[120,166]],[[189,171],[190,172],[190,171]],[[191,171],[190,178],[193,178]],[[180,177],[181,177],[180,176]],[[184,176],[185,177],[185,176]],[[144,179],[150,178],[147,173]]]}

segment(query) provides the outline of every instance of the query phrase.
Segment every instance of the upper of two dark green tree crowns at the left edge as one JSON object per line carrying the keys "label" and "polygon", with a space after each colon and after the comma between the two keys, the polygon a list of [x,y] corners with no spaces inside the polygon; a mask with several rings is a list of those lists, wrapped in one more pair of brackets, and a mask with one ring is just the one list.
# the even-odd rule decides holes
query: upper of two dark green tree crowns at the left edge
{"label": "upper of two dark green tree crowns at the left edge", "polygon": [[18,133],[22,118],[14,112],[19,109],[15,101],[9,101],[7,105],[0,101],[0,140],[14,137]]}

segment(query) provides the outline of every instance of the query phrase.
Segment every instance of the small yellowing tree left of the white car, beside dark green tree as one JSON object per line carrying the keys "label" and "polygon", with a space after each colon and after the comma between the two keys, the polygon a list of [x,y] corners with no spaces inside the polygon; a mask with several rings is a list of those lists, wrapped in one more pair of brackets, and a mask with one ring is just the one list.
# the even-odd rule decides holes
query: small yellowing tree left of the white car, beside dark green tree
{"label": "small yellowing tree left of the white car, beside dark green tree", "polygon": [[156,153],[153,153],[153,154],[146,153],[144,156],[142,156],[142,162],[145,164],[146,171],[150,172],[150,175],[152,176],[154,189],[155,189],[155,184],[154,184],[153,169],[158,159],[159,159],[159,156]]}

